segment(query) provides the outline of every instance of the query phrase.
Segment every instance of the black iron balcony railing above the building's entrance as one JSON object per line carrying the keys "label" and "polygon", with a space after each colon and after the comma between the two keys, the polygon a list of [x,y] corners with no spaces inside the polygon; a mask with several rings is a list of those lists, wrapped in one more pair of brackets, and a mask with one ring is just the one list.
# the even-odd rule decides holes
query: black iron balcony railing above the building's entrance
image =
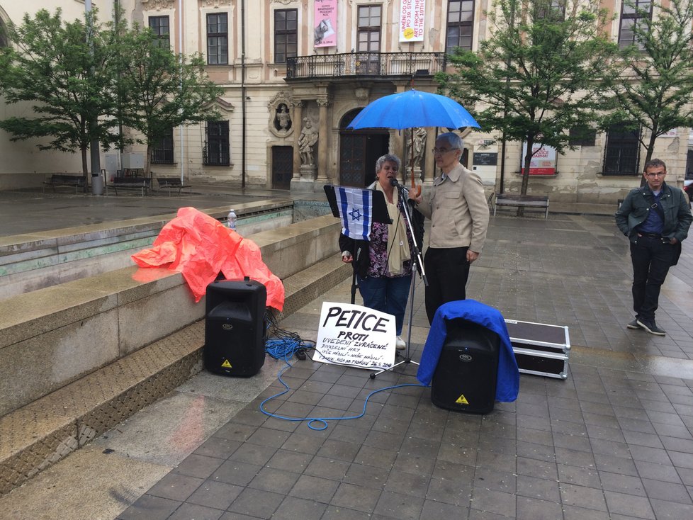
{"label": "black iron balcony railing above the building's entrance", "polygon": [[412,77],[443,72],[444,52],[349,52],[286,59],[286,79]]}

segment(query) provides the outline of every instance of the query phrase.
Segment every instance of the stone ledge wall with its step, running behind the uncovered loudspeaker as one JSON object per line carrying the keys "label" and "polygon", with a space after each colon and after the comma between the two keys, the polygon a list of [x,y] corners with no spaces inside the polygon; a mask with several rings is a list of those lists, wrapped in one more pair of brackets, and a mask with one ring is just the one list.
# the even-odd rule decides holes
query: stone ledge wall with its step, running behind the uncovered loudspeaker
{"label": "stone ledge wall with its step, running behind the uncovered loudspeaker", "polygon": [[[283,281],[280,318],[351,275],[339,229],[328,215],[249,237]],[[146,271],[0,300],[0,494],[203,369],[204,300],[191,303],[179,273]]]}

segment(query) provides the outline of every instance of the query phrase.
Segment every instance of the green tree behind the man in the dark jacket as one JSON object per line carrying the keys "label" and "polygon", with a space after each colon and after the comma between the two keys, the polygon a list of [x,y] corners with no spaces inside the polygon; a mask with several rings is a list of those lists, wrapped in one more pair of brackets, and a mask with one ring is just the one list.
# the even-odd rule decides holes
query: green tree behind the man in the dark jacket
{"label": "green tree behind the man in the dark jacket", "polygon": [[658,4],[652,17],[631,1],[626,6],[641,23],[632,27],[633,45],[621,51],[624,73],[609,82],[614,111],[608,121],[647,130],[638,135],[648,162],[660,135],[693,126],[693,3]]}

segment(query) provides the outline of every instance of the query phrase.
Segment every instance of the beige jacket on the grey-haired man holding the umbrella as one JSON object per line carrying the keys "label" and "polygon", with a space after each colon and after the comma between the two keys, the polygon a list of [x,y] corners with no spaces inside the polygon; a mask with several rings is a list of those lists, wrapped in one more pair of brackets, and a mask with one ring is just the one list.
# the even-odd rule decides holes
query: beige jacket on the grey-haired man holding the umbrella
{"label": "beige jacket on the grey-haired man holding the umbrella", "polygon": [[483,183],[461,164],[446,179],[436,177],[433,187],[424,190],[417,210],[431,219],[429,247],[466,247],[480,253],[488,229],[488,203]]}

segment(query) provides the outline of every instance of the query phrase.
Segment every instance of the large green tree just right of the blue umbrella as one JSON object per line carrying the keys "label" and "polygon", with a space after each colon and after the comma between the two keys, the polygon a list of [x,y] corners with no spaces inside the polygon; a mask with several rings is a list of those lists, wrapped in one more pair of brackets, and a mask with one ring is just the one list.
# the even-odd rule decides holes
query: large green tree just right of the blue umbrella
{"label": "large green tree just right of the blue umbrella", "polygon": [[597,0],[495,0],[488,20],[491,34],[478,52],[456,50],[456,74],[438,79],[444,91],[473,107],[483,130],[526,143],[526,194],[534,144],[563,153],[571,129],[598,120],[600,83],[617,47],[604,37],[606,12]]}

